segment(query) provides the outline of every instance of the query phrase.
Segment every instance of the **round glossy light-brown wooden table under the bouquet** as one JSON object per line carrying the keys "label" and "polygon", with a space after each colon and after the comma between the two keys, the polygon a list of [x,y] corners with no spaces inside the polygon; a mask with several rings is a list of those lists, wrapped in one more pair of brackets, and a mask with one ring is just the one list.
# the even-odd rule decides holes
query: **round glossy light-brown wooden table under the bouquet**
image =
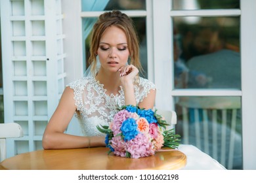
{"label": "round glossy light-brown wooden table under the bouquet", "polygon": [[79,148],[66,150],[37,150],[7,158],[0,169],[12,170],[137,170],[181,169],[186,156],[179,150],[156,152],[146,158],[121,158],[108,155],[108,148]]}

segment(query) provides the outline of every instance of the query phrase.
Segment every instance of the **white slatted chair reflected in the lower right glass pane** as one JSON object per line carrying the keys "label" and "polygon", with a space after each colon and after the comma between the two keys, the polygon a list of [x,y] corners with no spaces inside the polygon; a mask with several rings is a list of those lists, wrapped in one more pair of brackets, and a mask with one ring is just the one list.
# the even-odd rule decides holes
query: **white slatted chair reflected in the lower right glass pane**
{"label": "white slatted chair reflected in the lower right glass pane", "polygon": [[239,97],[184,97],[177,105],[183,144],[194,144],[227,169],[232,169],[235,153],[242,162],[242,137],[236,131]]}

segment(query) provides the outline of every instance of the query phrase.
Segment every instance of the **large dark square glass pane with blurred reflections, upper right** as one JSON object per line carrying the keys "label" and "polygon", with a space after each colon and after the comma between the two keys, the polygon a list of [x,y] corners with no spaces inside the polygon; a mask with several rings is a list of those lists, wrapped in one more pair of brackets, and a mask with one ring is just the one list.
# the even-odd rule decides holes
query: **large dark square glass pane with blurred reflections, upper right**
{"label": "large dark square glass pane with blurred reflections, upper right", "polygon": [[173,18],[175,88],[241,88],[239,17]]}

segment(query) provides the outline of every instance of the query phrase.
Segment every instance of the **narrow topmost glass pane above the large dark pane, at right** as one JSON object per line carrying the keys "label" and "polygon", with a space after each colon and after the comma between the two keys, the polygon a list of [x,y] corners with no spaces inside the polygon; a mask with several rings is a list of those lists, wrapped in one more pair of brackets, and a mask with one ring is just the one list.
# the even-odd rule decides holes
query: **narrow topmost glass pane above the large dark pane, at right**
{"label": "narrow topmost glass pane above the large dark pane, at right", "polygon": [[240,0],[173,0],[174,10],[240,8]]}

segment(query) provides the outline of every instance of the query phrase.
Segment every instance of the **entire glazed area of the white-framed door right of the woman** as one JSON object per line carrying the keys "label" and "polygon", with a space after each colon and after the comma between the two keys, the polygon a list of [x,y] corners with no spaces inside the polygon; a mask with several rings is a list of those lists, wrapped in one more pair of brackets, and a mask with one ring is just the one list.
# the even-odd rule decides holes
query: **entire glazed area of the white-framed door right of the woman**
{"label": "entire glazed area of the white-framed door right of the woman", "polygon": [[240,1],[172,2],[177,133],[226,169],[243,169]]}

